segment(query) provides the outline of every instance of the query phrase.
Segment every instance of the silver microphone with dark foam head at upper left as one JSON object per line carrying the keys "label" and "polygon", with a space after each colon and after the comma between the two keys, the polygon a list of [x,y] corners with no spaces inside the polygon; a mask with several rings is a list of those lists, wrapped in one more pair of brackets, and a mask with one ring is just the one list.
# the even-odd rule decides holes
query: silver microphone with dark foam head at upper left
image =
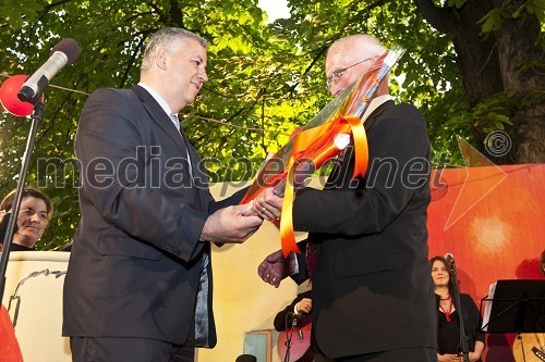
{"label": "silver microphone with dark foam head at upper left", "polygon": [[41,65],[21,87],[17,98],[23,102],[35,103],[49,80],[65,65],[72,65],[82,50],[74,39],[66,38],[59,41],[51,49],[51,57]]}

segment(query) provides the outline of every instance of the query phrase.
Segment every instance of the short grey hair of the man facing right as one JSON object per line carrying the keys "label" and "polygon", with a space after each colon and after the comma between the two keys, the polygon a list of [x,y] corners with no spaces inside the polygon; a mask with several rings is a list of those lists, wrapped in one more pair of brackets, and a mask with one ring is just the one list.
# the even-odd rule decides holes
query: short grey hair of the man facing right
{"label": "short grey hair of the man facing right", "polygon": [[146,50],[144,50],[141,72],[145,72],[152,67],[152,65],[154,64],[155,55],[159,48],[165,48],[168,51],[172,52],[175,50],[173,47],[175,40],[184,39],[195,39],[203,46],[203,48],[208,49],[208,42],[206,41],[206,39],[190,30],[182,29],[180,27],[166,27],[159,29],[154,35],[152,35],[146,46]]}

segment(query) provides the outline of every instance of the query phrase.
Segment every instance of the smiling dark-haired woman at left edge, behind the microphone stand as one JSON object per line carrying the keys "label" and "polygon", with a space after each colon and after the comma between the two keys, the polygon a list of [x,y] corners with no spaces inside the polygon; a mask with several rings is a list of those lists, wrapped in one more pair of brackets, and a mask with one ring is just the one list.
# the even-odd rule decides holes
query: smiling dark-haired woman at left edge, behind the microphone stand
{"label": "smiling dark-haired woman at left edge, behind the microphone stand", "polygon": [[[2,224],[9,220],[14,198],[15,190],[8,194],[0,203],[0,222]],[[53,207],[49,198],[35,188],[26,187],[21,198],[21,208],[10,251],[35,250],[34,246],[44,235],[52,214]],[[3,244],[3,237],[0,242]]]}

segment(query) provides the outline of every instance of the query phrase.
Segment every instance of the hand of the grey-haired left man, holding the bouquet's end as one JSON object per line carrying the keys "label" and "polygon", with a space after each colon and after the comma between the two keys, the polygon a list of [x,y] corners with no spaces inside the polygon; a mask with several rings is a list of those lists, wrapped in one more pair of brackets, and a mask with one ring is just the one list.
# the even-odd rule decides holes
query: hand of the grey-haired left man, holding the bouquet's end
{"label": "hand of the grey-haired left man, holding the bouquet's end", "polygon": [[201,232],[201,241],[242,244],[262,225],[263,220],[251,215],[253,203],[228,207],[208,216]]}

